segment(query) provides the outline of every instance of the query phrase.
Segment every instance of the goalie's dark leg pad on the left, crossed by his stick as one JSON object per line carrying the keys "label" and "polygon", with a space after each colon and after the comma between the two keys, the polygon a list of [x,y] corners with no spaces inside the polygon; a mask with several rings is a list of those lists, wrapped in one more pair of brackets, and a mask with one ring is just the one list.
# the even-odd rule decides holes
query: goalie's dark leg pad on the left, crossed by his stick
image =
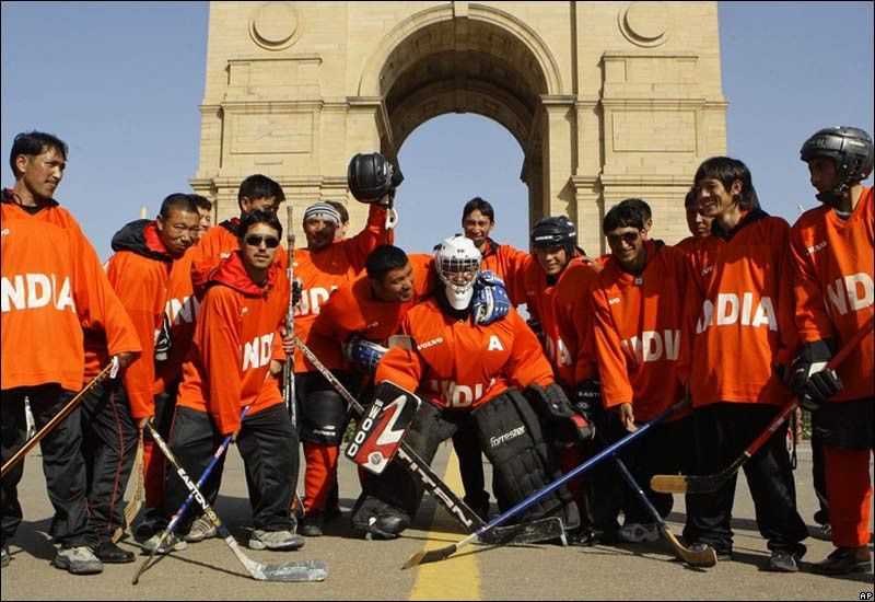
{"label": "goalie's dark leg pad on the left, crossed by his stick", "polygon": [[[439,443],[455,430],[455,425],[444,420],[441,413],[442,408],[423,400],[405,438],[410,449],[429,464]],[[352,524],[383,536],[397,535],[410,525],[424,493],[421,481],[397,458],[382,474],[363,471],[362,489]]]}

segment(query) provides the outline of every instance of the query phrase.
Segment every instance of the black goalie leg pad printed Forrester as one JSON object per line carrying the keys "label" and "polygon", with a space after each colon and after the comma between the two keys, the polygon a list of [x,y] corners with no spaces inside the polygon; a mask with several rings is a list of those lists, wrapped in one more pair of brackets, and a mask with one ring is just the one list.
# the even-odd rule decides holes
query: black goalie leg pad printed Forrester
{"label": "black goalie leg pad printed Forrester", "polygon": [[[561,476],[544,441],[540,424],[526,398],[515,389],[493,397],[471,412],[483,451],[495,475],[495,497],[505,511]],[[562,486],[529,506],[517,521],[558,514],[567,529],[580,524],[578,506]]]}

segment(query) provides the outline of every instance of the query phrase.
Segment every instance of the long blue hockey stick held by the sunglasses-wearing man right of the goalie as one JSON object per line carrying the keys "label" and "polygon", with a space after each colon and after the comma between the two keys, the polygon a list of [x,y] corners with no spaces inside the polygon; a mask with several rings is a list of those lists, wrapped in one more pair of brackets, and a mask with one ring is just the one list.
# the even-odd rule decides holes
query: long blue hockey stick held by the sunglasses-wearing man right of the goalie
{"label": "long blue hockey stick held by the sunglasses-wearing man right of the goalie", "polygon": [[584,462],[580,466],[576,466],[575,468],[567,472],[561,477],[557,478],[556,481],[553,481],[552,483],[550,483],[546,487],[542,487],[542,488],[538,489],[537,491],[532,494],[529,497],[527,497],[526,499],[524,499],[523,501],[521,501],[520,503],[517,503],[516,506],[514,506],[513,508],[511,508],[510,510],[508,510],[503,514],[495,517],[494,519],[492,519],[491,521],[486,523],[483,526],[481,526],[480,529],[478,529],[477,531],[475,531],[474,533],[471,533],[470,535],[465,537],[464,540],[462,540],[462,541],[459,541],[459,542],[457,542],[457,543],[455,543],[453,545],[448,545],[446,547],[442,547],[442,548],[439,548],[439,549],[430,549],[428,552],[417,552],[416,554],[410,556],[410,558],[407,559],[407,562],[404,564],[404,566],[401,568],[410,568],[410,567],[413,567],[413,566],[417,566],[417,565],[423,565],[425,563],[436,563],[439,560],[443,560],[444,558],[450,557],[455,552],[458,552],[462,547],[466,546],[467,544],[471,543],[474,540],[476,540],[477,537],[482,535],[485,532],[489,531],[490,529],[494,528],[498,524],[501,524],[502,522],[506,521],[511,517],[514,517],[514,516],[518,514],[520,512],[522,512],[523,510],[525,510],[526,508],[528,508],[529,506],[532,506],[533,503],[538,501],[540,498],[542,498],[546,495],[555,491],[556,489],[558,489],[559,487],[561,487],[562,485],[564,485],[565,483],[568,483],[569,481],[571,481],[572,478],[578,476],[579,474],[583,473],[584,471],[588,470],[590,467],[594,466],[595,464],[602,462],[602,460],[604,460],[608,455],[614,454],[617,450],[619,450],[620,448],[629,444],[634,439],[641,437],[642,435],[648,432],[654,425],[661,422],[662,420],[664,420],[665,418],[667,418],[668,416],[670,416],[672,414],[674,414],[678,409],[684,408],[688,404],[689,404],[689,401],[688,400],[684,400],[682,402],[680,402],[678,404],[675,404],[674,406],[669,407],[668,409],[666,409],[665,412],[660,414],[656,418],[654,418],[650,422],[646,422],[645,425],[640,427],[637,431],[630,432],[628,436],[623,437],[622,439],[620,439],[616,443],[605,448],[604,450],[602,450],[600,452],[595,454],[593,458],[591,458],[590,460],[587,460],[586,462]]}

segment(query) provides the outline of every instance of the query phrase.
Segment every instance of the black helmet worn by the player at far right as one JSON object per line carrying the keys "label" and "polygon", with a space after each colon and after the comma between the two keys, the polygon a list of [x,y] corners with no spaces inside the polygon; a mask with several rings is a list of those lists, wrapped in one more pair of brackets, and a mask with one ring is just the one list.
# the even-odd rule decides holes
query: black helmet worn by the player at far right
{"label": "black helmet worn by the player at far right", "polygon": [[800,159],[805,162],[816,157],[828,157],[836,161],[836,188],[817,195],[821,201],[843,196],[852,185],[862,182],[872,173],[872,137],[860,128],[835,126],[818,130],[808,138]]}

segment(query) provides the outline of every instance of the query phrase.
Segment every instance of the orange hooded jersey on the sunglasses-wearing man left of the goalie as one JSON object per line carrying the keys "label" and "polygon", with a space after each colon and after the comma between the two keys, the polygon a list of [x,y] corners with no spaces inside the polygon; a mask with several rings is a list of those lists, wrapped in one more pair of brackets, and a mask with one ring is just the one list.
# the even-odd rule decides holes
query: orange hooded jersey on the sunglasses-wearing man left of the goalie
{"label": "orange hooded jersey on the sunglasses-wearing man left of the goalie", "polygon": [[240,429],[244,406],[252,405],[252,415],[282,403],[269,370],[273,339],[285,321],[289,279],[279,277],[275,264],[268,283],[258,287],[234,253],[213,271],[210,285],[176,403],[209,413],[229,435]]}

